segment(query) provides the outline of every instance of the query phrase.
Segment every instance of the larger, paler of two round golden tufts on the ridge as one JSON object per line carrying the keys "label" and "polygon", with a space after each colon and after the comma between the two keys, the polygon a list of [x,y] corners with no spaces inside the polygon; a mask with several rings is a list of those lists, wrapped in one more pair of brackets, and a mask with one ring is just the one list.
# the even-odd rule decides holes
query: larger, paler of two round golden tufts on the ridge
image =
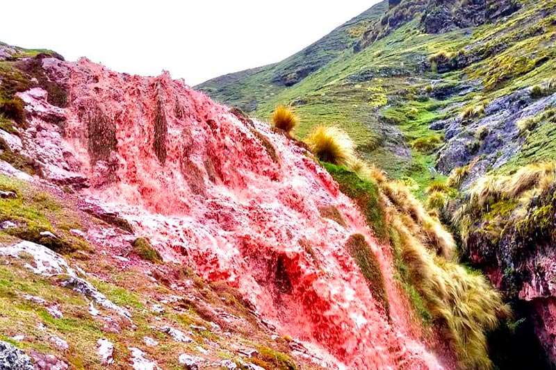
{"label": "larger, paler of two round golden tufts on the ridge", "polygon": [[350,137],[336,126],[317,126],[306,139],[309,149],[319,160],[350,167],[356,161]]}

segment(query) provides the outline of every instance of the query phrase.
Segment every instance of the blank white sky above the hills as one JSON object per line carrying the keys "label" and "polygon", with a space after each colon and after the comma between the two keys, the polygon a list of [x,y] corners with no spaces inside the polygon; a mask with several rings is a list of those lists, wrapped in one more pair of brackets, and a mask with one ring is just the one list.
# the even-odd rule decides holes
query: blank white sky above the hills
{"label": "blank white sky above the hills", "polygon": [[4,0],[0,41],[196,85],[279,62],[378,0]]}

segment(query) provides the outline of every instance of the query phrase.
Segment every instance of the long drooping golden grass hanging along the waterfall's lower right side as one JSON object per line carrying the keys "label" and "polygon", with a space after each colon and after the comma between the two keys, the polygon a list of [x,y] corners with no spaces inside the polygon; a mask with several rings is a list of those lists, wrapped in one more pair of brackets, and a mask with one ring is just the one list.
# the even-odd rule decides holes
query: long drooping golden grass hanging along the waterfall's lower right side
{"label": "long drooping golden grass hanging along the waterfall's lower right side", "polygon": [[[491,369],[486,332],[511,314],[502,296],[486,278],[452,262],[452,235],[404,185],[384,180],[384,174],[376,183],[377,205],[389,225],[396,266],[405,276],[402,286],[415,310],[423,318],[432,318],[462,369]],[[434,192],[446,196],[439,190],[430,194]]]}

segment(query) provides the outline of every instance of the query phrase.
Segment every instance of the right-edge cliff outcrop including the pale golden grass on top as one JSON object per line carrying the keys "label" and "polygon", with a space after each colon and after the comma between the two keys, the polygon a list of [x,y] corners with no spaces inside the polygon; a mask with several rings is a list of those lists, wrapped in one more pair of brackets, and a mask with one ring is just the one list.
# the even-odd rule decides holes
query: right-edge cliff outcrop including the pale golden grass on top
{"label": "right-edge cliff outcrop including the pale golden grass on top", "polygon": [[[515,174],[512,181],[521,190],[513,198],[495,195],[494,187],[505,188],[504,178],[489,177],[497,184],[491,185],[491,190],[486,190],[486,181],[481,180],[471,188],[471,200],[460,210],[464,215],[460,224],[466,229],[465,254],[516,303],[524,326],[537,335],[528,339],[528,343],[538,342],[544,348],[548,362],[543,367],[550,368],[550,364],[556,363],[553,248],[556,196],[554,167],[545,166],[543,169],[524,167]],[[534,171],[538,177],[531,183],[524,181],[523,175],[532,175]],[[488,194],[483,207],[473,204],[480,188]],[[514,368],[512,364],[506,366]]]}

